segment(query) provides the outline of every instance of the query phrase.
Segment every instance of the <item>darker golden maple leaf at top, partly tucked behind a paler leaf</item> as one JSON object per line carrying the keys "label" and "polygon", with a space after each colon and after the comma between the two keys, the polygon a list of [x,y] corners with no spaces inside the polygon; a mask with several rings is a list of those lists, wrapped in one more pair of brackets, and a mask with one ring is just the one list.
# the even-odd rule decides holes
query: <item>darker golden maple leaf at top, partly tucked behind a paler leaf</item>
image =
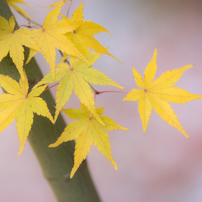
{"label": "darker golden maple leaf at top, partly tucked behind a paler leaf", "polygon": [[63,18],[67,22],[80,23],[80,26],[74,29],[73,32],[67,33],[66,36],[68,36],[68,38],[78,47],[78,49],[83,54],[89,53],[90,48],[91,50],[94,50],[98,53],[109,55],[114,59],[118,60],[107,51],[108,48],[105,48],[103,45],[100,44],[99,41],[97,41],[93,37],[95,34],[98,34],[99,32],[107,32],[110,35],[111,33],[106,28],[97,23],[94,23],[92,21],[83,21],[83,3],[81,3],[78,9],[74,11],[71,20],[69,20],[69,18],[64,16]]}

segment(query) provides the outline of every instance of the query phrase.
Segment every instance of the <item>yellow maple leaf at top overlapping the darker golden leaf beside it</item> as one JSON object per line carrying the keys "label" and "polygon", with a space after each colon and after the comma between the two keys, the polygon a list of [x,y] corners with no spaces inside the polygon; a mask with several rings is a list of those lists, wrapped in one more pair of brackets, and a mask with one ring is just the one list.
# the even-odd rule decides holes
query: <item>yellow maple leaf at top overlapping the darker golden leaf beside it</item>
{"label": "yellow maple leaf at top overlapping the darker golden leaf beside it", "polygon": [[[65,33],[73,31],[78,27],[78,23],[59,20],[60,10],[65,2],[57,3],[57,7],[48,13],[42,25],[42,29],[32,30],[32,37],[36,44],[41,48],[41,53],[50,65],[53,77],[55,75],[55,48],[69,55],[79,57],[84,62],[88,60],[78,50],[78,48],[66,37]],[[36,50],[31,50],[27,63],[37,53]]]}

